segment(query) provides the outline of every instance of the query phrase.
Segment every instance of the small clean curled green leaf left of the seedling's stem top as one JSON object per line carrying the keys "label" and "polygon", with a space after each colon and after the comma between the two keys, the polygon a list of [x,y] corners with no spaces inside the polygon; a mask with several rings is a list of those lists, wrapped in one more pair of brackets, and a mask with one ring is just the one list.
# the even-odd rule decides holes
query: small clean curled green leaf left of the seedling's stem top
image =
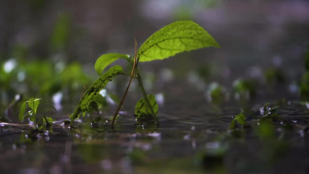
{"label": "small clean curled green leaf left of the seedling's stem top", "polygon": [[129,55],[117,53],[101,55],[99,59],[97,59],[95,62],[95,71],[98,73],[99,76],[101,76],[104,68],[119,58],[129,59]]}

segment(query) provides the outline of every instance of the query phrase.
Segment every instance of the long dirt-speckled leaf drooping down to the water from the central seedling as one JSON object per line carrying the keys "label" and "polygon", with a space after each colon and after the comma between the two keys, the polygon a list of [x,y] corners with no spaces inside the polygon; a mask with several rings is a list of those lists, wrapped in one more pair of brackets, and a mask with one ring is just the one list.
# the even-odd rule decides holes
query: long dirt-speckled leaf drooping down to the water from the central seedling
{"label": "long dirt-speckled leaf drooping down to the water from the central seedling", "polygon": [[103,75],[101,75],[85,92],[83,98],[78,102],[75,111],[72,115],[72,120],[78,117],[78,114],[82,111],[88,111],[90,102],[95,99],[95,96],[100,92],[101,89],[109,82],[112,81],[114,76],[118,74],[124,74],[123,69],[119,65],[115,65],[109,68]]}

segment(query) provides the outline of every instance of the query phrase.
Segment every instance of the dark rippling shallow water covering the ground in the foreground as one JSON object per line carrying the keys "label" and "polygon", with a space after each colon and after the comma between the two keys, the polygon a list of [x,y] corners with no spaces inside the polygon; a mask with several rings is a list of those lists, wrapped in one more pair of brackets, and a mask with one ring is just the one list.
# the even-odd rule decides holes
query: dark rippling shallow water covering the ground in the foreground
{"label": "dark rippling shallow water covering the ground in the foreground", "polygon": [[234,133],[228,131],[232,117],[239,111],[231,107],[216,111],[209,107],[199,115],[159,113],[157,127],[137,125],[128,113],[122,115],[115,130],[110,129],[110,124],[91,127],[89,123],[76,123],[69,127],[57,122],[52,130],[33,138],[30,134],[26,138],[31,125],[2,123],[1,173],[309,171],[306,104],[281,105],[277,112],[283,122],[274,122],[276,136],[271,141],[260,138],[256,131],[261,116],[259,106],[251,108],[253,114],[247,120],[250,126]]}

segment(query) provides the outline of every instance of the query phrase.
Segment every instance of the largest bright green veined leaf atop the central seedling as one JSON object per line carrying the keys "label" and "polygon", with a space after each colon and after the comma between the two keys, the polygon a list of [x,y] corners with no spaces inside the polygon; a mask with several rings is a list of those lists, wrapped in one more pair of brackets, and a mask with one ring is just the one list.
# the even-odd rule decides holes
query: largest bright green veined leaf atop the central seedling
{"label": "largest bright green veined leaf atop the central seedling", "polygon": [[151,35],[140,47],[140,62],[166,59],[177,53],[204,47],[220,47],[217,41],[193,21],[171,23]]}

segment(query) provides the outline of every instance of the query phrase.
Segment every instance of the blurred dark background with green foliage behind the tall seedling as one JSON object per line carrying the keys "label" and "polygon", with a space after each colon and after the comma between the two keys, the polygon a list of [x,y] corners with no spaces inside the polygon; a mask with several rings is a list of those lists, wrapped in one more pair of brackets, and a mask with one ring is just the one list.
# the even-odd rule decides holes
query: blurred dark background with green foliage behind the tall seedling
{"label": "blurred dark background with green foliage behind the tall seedling", "polygon": [[[134,36],[140,46],[177,20],[197,22],[222,48],[139,64],[145,88],[169,106],[164,112],[181,108],[172,107],[179,101],[299,98],[309,94],[309,77],[302,79],[308,16],[309,3],[302,0],[4,0],[0,2],[1,107],[22,93],[25,98],[43,97],[74,108],[83,86],[98,77],[93,66],[100,55],[133,54]],[[122,60],[114,64],[130,71]],[[117,77],[106,87],[108,93],[121,97],[128,80]],[[259,90],[261,86],[267,90]],[[136,83],[130,91],[134,93],[128,100],[141,97]],[[133,110],[131,103],[124,107]]]}

